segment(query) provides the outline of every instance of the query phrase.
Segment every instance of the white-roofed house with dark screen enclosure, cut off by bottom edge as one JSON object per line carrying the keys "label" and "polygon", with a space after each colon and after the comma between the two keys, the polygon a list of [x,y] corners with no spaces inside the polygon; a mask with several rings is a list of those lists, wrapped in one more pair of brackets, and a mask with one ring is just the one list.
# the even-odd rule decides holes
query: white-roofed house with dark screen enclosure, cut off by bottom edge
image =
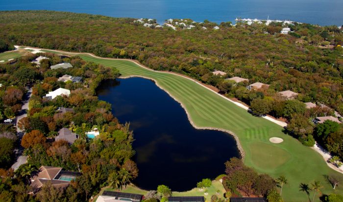
{"label": "white-roofed house with dark screen enclosure, cut off by bottom edge", "polygon": [[141,202],[143,195],[115,191],[104,191],[96,202]]}

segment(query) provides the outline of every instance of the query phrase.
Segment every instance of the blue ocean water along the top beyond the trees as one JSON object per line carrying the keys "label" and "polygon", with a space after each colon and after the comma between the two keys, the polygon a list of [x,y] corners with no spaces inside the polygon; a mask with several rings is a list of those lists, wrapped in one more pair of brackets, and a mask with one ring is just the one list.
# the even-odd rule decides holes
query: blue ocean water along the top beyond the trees
{"label": "blue ocean water along the top beyond the trees", "polygon": [[233,22],[236,17],[343,24],[343,0],[0,0],[0,10],[56,10],[111,17]]}

